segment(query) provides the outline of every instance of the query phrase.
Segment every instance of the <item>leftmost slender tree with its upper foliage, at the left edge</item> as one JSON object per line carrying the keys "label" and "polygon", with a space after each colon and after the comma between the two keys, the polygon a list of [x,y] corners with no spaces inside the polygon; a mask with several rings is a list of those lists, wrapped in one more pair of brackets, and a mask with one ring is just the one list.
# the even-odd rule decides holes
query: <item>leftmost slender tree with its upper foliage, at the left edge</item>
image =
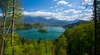
{"label": "leftmost slender tree with its upper foliage, at the left edge", "polygon": [[6,37],[6,33],[5,33],[6,25],[5,24],[6,24],[6,19],[7,19],[8,12],[9,12],[9,3],[10,3],[10,1],[8,1],[8,0],[0,0],[0,8],[3,13],[3,33],[2,33],[1,55],[3,54],[3,46],[4,46],[4,42],[5,42],[5,37]]}

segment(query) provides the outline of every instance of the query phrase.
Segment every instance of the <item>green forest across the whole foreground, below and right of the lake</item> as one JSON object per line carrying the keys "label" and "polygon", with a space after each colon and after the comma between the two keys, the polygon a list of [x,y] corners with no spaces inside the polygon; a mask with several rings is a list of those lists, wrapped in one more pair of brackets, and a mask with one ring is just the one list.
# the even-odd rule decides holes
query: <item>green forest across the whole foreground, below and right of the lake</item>
{"label": "green forest across the whole foreground, below and right of the lake", "polygon": [[[66,30],[59,38],[51,41],[40,39],[38,41],[28,38],[20,38],[14,35],[14,46],[11,46],[11,34],[5,39],[5,54],[12,55],[12,49],[16,55],[93,55],[94,53],[94,22]],[[0,43],[2,37],[0,35]],[[1,45],[0,45],[1,47]]]}

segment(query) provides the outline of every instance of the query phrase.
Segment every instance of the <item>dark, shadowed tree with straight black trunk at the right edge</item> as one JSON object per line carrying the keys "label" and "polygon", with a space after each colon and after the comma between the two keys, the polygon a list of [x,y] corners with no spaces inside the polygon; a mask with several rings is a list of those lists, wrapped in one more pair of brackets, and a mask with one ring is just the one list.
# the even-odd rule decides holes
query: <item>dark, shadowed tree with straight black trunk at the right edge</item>
{"label": "dark, shadowed tree with straight black trunk at the right edge", "polygon": [[[100,40],[100,26],[99,26],[99,21],[100,21],[100,0],[91,0],[91,1],[94,1],[93,3],[93,20],[94,20],[94,27],[95,27],[95,49],[94,49],[94,54],[95,55],[98,55],[99,51],[100,51],[100,48],[99,48],[99,40]],[[97,50],[98,49],[98,50]]]}

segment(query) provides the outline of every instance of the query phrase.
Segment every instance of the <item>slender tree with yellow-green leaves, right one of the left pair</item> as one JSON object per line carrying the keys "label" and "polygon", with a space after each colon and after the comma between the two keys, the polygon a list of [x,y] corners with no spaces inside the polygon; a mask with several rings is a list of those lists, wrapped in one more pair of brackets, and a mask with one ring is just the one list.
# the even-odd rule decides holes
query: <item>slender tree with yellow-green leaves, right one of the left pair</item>
{"label": "slender tree with yellow-green leaves, right one of the left pair", "polygon": [[20,7],[20,3],[18,0],[13,0],[13,14],[12,14],[12,29],[11,29],[11,46],[13,47],[12,49],[12,53],[13,55],[15,55],[15,51],[14,51],[14,44],[13,44],[13,37],[14,37],[14,24],[15,24],[15,20],[19,20],[22,12],[21,12],[21,7]]}

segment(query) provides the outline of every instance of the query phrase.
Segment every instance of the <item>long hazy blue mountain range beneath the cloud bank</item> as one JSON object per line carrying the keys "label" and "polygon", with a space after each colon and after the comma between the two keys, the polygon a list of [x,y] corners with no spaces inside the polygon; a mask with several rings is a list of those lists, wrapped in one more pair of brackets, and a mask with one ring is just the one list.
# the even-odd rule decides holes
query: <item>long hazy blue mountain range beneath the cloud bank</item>
{"label": "long hazy blue mountain range beneath the cloud bank", "polygon": [[43,17],[31,17],[31,16],[24,16],[24,23],[42,23],[42,24],[54,24],[54,25],[66,25],[66,24],[71,24],[80,21],[79,19],[74,20],[74,21],[62,21],[62,20],[57,20],[54,18],[51,19],[46,19]]}

